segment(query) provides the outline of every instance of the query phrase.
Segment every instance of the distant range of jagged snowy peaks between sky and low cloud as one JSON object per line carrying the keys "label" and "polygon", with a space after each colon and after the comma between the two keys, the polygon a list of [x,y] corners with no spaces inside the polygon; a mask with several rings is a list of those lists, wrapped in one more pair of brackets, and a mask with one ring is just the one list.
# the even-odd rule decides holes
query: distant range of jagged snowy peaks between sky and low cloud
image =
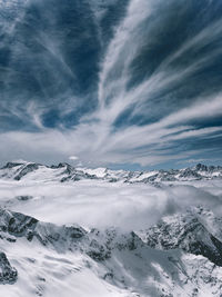
{"label": "distant range of jagged snowy peaks between sky and low cloud", "polygon": [[160,181],[189,181],[201,179],[222,178],[221,166],[196,165],[195,167],[178,170],[125,171],[107,168],[74,168],[69,164],[58,166],[43,166],[33,162],[8,162],[0,169],[0,178],[20,180],[78,181],[81,179],[101,179],[110,182],[160,182]]}

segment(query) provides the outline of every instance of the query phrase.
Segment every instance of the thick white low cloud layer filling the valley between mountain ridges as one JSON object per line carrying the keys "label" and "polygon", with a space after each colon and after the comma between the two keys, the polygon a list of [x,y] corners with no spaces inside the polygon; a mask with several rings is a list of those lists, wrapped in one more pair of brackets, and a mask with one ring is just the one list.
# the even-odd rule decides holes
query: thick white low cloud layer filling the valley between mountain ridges
{"label": "thick white low cloud layer filling the valley between mountain ridges", "polygon": [[[19,201],[16,196],[32,199]],[[219,181],[193,181],[190,185],[155,188],[150,185],[78,181],[38,184],[1,181],[0,205],[56,224],[79,224],[85,228],[110,226],[144,229],[162,216],[204,206],[222,216],[222,187]]]}

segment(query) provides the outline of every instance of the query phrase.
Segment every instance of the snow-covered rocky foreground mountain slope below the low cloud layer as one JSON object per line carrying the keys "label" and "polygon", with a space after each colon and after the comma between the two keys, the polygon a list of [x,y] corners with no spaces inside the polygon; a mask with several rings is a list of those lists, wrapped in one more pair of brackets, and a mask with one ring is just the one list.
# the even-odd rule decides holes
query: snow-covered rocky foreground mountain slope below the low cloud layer
{"label": "snow-covered rocky foreground mountain slope below the low cloud layer", "polygon": [[[137,235],[117,228],[87,231],[77,225],[57,226],[1,209],[0,285],[11,285],[1,290],[13,297],[60,296],[61,289],[62,296],[221,296],[219,246],[192,216],[170,216],[164,219],[168,227]],[[190,248],[194,241],[204,242],[214,258]]]}

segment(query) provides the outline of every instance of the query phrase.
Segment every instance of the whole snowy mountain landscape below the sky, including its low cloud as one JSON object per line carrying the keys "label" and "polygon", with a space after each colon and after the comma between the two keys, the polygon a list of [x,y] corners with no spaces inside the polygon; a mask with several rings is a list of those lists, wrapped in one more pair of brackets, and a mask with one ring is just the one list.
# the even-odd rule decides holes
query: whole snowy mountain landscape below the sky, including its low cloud
{"label": "whole snowy mountain landscape below the sky, including its low cloud", "polygon": [[221,174],[204,165],[139,172],[8,162],[0,293],[221,297]]}

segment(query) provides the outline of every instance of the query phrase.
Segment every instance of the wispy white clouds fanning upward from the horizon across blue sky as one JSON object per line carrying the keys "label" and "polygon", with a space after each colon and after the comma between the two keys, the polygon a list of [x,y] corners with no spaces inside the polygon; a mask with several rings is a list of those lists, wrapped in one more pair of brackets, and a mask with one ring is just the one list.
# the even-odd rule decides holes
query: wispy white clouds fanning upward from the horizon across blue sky
{"label": "wispy white clouds fanning upward from the horizon across blue sky", "polygon": [[[114,37],[100,65],[98,109],[93,113],[83,116],[73,130],[68,130],[62,126],[60,126],[61,130],[56,130],[47,129],[43,126],[42,115],[48,110],[48,107],[41,108],[40,105],[31,101],[27,108],[26,117],[32,119],[32,123],[40,129],[40,132],[11,131],[0,133],[1,159],[39,158],[46,161],[53,158],[57,160],[80,159],[83,165],[91,161],[92,165],[98,166],[107,166],[111,162],[138,162],[148,166],[168,159],[180,159],[188,155],[189,151],[174,154],[172,149],[169,149],[170,146],[175,146],[173,143],[179,140],[201,140],[221,133],[221,127],[196,128],[190,122],[222,116],[222,95],[195,98],[192,105],[178,108],[175,112],[162,115],[153,123],[128,125],[117,129],[113,127],[117,118],[129,107],[132,108],[133,116],[143,117],[148,112],[144,105],[150,100],[153,91],[171,86],[176,80],[182,80],[200,69],[202,65],[209,63],[212,56],[219,53],[216,49],[213,49],[212,55],[196,57],[193,63],[185,65],[181,70],[170,70],[170,65],[186,50],[192,47],[205,47],[216,39],[222,31],[221,21],[204,28],[190,41],[184,41],[173,55],[161,62],[149,79],[128,90],[127,82],[131,62],[144,42],[137,30],[142,21],[152,14],[153,3],[153,1],[147,0],[132,0],[125,18],[115,28]],[[152,36],[150,36],[151,41]],[[65,65],[57,40],[49,41],[47,36],[41,32],[39,42],[63,65],[65,71],[72,77],[73,73]],[[62,107],[63,109],[60,107],[62,116],[73,111],[79,99],[72,100],[70,90],[64,97],[68,99]],[[90,98],[88,99],[90,100]],[[10,112],[22,118],[24,112],[19,106],[18,101]],[[159,107],[154,106],[154,108]],[[145,117],[148,118],[149,115]]]}

